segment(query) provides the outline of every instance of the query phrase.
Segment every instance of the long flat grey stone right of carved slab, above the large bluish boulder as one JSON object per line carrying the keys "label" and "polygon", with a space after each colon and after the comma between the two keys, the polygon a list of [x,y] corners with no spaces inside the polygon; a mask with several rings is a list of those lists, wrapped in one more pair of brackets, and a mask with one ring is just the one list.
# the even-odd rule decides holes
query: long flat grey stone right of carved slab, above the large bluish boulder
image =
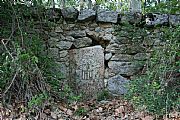
{"label": "long flat grey stone right of carved slab, above the large bluish boulder", "polygon": [[114,74],[120,74],[125,76],[132,76],[138,73],[141,68],[144,66],[144,63],[136,62],[119,62],[119,61],[110,61],[108,62],[109,72]]}

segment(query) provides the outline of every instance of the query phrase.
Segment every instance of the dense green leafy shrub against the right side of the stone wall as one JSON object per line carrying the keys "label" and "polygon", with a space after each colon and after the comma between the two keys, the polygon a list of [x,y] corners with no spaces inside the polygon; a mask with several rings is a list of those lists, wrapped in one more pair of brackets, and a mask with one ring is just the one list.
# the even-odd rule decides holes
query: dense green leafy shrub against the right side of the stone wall
{"label": "dense green leafy shrub against the right side of the stone wall", "polygon": [[147,71],[133,79],[126,98],[139,108],[162,115],[179,106],[179,78],[173,76],[179,72],[176,57],[179,56],[180,27],[160,28],[163,31],[164,46],[154,48],[147,61]]}

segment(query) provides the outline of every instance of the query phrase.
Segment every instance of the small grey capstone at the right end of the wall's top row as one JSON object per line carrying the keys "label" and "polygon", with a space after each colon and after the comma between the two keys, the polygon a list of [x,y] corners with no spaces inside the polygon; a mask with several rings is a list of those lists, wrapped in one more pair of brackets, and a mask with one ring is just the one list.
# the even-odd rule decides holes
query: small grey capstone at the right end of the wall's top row
{"label": "small grey capstone at the right end of the wall's top row", "polygon": [[180,24],[180,15],[169,15],[169,23],[177,26]]}

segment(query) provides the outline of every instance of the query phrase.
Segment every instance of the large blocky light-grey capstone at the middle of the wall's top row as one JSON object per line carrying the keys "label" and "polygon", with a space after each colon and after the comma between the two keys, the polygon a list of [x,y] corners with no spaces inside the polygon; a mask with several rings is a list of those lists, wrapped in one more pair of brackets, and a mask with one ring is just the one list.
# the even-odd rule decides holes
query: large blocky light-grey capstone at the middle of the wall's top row
{"label": "large blocky light-grey capstone at the middle of the wall's top row", "polygon": [[118,13],[115,11],[99,11],[97,13],[97,22],[117,23]]}

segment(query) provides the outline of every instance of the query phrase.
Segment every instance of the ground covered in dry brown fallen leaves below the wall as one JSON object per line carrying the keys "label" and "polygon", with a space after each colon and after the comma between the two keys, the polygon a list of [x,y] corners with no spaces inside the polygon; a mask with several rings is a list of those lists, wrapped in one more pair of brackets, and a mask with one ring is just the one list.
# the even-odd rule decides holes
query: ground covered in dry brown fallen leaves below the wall
{"label": "ground covered in dry brown fallen leaves below the wall", "polygon": [[[121,98],[110,100],[89,100],[86,102],[44,103],[43,109],[25,112],[23,103],[3,108],[0,106],[0,120],[155,120],[154,115],[136,111]],[[36,111],[36,112],[35,112]],[[180,112],[172,112],[158,120],[180,120]]]}

